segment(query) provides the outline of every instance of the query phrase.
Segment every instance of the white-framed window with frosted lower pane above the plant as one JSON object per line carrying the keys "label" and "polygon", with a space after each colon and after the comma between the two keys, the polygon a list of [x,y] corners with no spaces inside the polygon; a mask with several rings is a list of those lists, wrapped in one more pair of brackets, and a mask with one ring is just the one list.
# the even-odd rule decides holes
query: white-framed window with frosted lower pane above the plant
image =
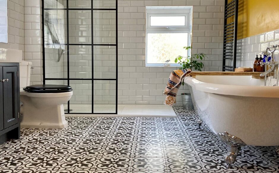
{"label": "white-framed window with frosted lower pane above the plant", "polygon": [[189,6],[146,7],[146,67],[180,66],[175,58],[191,53],[183,49],[191,45],[191,18]]}

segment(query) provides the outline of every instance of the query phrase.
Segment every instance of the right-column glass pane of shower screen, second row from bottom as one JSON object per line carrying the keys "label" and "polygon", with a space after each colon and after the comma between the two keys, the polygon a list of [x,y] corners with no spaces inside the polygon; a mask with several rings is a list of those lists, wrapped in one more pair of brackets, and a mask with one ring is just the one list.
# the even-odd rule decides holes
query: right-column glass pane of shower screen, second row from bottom
{"label": "right-column glass pane of shower screen, second row from bottom", "polygon": [[116,78],[116,47],[93,46],[94,48],[94,79]]}

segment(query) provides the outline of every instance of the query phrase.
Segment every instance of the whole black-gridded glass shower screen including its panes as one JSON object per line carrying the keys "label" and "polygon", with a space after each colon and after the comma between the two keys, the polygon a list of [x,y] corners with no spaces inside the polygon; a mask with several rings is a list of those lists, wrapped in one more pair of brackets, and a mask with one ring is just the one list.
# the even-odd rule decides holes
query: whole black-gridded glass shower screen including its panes
{"label": "whole black-gridded glass shower screen including its panes", "polygon": [[117,114],[116,7],[117,0],[42,0],[43,83],[73,88],[65,113]]}

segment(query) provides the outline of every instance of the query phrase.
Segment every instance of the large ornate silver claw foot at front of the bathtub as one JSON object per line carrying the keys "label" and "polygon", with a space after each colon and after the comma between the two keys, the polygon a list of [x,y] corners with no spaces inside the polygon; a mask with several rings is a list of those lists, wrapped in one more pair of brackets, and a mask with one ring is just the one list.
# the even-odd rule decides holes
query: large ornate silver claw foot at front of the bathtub
{"label": "large ornate silver claw foot at front of the bathtub", "polygon": [[237,154],[240,151],[242,146],[246,144],[240,139],[235,136],[230,135],[228,132],[219,133],[218,138],[221,139],[223,142],[226,143],[228,146],[228,153],[224,156],[224,160],[227,164],[227,168],[232,168],[231,164],[236,161]]}

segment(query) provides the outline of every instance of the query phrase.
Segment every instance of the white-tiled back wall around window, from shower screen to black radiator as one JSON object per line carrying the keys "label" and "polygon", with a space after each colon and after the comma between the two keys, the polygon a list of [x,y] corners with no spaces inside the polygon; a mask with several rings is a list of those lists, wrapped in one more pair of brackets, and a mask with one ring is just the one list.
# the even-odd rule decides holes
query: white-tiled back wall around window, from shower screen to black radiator
{"label": "white-tiled back wall around window, from shower screen to black radiator", "polygon": [[[221,71],[224,0],[118,0],[118,104],[163,104],[175,67],[145,67],[145,6],[194,6],[193,53],[205,53],[206,71]],[[175,58],[175,57],[173,57]],[[177,105],[182,105],[180,94]]]}

